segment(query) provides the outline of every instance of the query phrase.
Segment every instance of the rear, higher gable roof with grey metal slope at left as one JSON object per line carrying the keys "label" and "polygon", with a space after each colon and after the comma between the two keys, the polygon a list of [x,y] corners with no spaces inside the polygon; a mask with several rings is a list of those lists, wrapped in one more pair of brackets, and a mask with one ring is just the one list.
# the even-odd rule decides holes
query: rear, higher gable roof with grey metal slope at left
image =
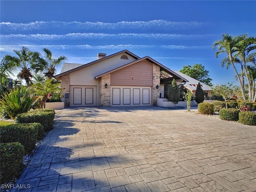
{"label": "rear, higher gable roof with grey metal slope at left", "polygon": [[68,64],[68,63],[67,63],[67,64],[64,63],[63,66],[62,66],[62,70],[61,70],[60,74],[56,75],[55,78],[58,79],[58,78],[60,78],[60,77],[63,76],[63,75],[69,74],[69,73],[71,73],[71,72],[80,70],[80,69],[85,68],[85,67],[87,67],[87,66],[93,65],[93,64],[95,64],[95,63],[101,62],[101,61],[103,61],[103,60],[106,60],[106,59],[109,59],[109,58],[112,58],[112,57],[114,57],[114,56],[117,56],[117,55],[120,55],[120,54],[124,54],[124,53],[126,53],[126,54],[132,56],[132,57],[135,58],[135,59],[140,58],[140,57],[136,56],[135,54],[133,54],[132,52],[130,52],[130,51],[128,51],[128,50],[123,50],[123,51],[117,52],[117,53],[115,53],[115,54],[106,56],[106,57],[104,57],[104,58],[95,60],[95,61],[93,61],[93,62],[90,62],[90,63],[88,63],[88,64],[73,64],[73,65],[71,64],[71,65],[70,65],[70,64]]}

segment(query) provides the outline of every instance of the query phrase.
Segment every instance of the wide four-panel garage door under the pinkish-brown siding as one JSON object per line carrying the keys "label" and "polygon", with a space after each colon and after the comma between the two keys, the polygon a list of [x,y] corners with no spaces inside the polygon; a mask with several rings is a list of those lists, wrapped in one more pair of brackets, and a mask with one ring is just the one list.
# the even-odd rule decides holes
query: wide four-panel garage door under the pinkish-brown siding
{"label": "wide four-panel garage door under the pinkish-brown siding", "polygon": [[151,106],[151,86],[111,86],[110,106]]}

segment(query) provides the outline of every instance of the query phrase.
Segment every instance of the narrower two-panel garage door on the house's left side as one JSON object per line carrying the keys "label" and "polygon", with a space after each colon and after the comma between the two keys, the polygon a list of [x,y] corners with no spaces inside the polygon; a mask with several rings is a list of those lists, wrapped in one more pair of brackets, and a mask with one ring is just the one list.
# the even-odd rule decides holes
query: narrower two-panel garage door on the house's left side
{"label": "narrower two-panel garage door on the house's left side", "polygon": [[70,86],[70,106],[96,106],[97,86]]}

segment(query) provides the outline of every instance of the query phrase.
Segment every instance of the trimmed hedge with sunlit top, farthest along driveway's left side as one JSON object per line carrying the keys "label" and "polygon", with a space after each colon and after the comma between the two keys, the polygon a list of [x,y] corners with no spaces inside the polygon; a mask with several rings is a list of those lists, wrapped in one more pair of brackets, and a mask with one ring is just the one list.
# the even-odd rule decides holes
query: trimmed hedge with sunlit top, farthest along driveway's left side
{"label": "trimmed hedge with sunlit top, farthest along driveway's left side", "polygon": [[27,113],[18,114],[16,123],[40,123],[47,132],[53,128],[55,112],[53,109],[35,109]]}

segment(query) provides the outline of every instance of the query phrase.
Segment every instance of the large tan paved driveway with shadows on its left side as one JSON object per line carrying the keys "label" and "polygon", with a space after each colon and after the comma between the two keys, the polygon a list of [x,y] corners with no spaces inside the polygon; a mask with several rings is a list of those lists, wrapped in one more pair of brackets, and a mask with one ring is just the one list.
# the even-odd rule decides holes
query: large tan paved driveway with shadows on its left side
{"label": "large tan paved driveway with shadows on its left side", "polygon": [[68,108],[16,184],[32,192],[256,191],[256,126],[152,106]]}

